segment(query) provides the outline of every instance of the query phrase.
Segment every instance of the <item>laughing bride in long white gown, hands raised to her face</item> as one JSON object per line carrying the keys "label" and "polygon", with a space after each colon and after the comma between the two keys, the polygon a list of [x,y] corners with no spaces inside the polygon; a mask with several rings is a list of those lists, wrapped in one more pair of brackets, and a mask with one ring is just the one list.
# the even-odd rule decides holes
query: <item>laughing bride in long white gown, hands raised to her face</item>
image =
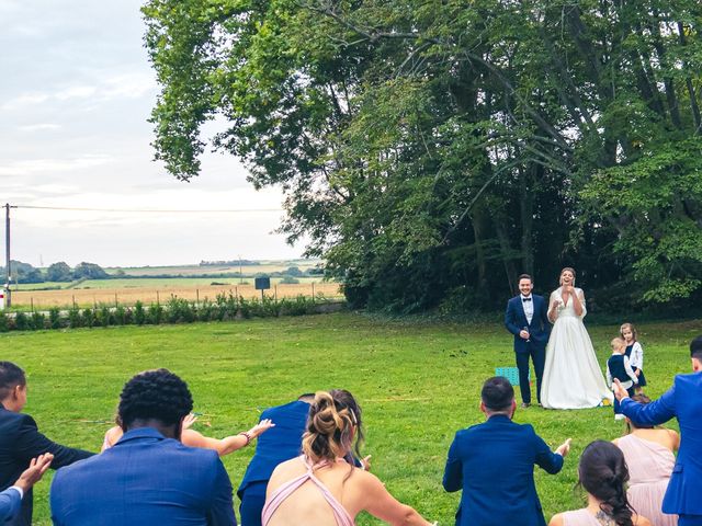
{"label": "laughing bride in long white gown, hands raised to her face", "polygon": [[551,293],[548,319],[554,323],[546,346],[541,403],[550,409],[595,408],[612,400],[582,324],[587,313],[582,289],[575,288],[575,271],[561,271],[561,287]]}

